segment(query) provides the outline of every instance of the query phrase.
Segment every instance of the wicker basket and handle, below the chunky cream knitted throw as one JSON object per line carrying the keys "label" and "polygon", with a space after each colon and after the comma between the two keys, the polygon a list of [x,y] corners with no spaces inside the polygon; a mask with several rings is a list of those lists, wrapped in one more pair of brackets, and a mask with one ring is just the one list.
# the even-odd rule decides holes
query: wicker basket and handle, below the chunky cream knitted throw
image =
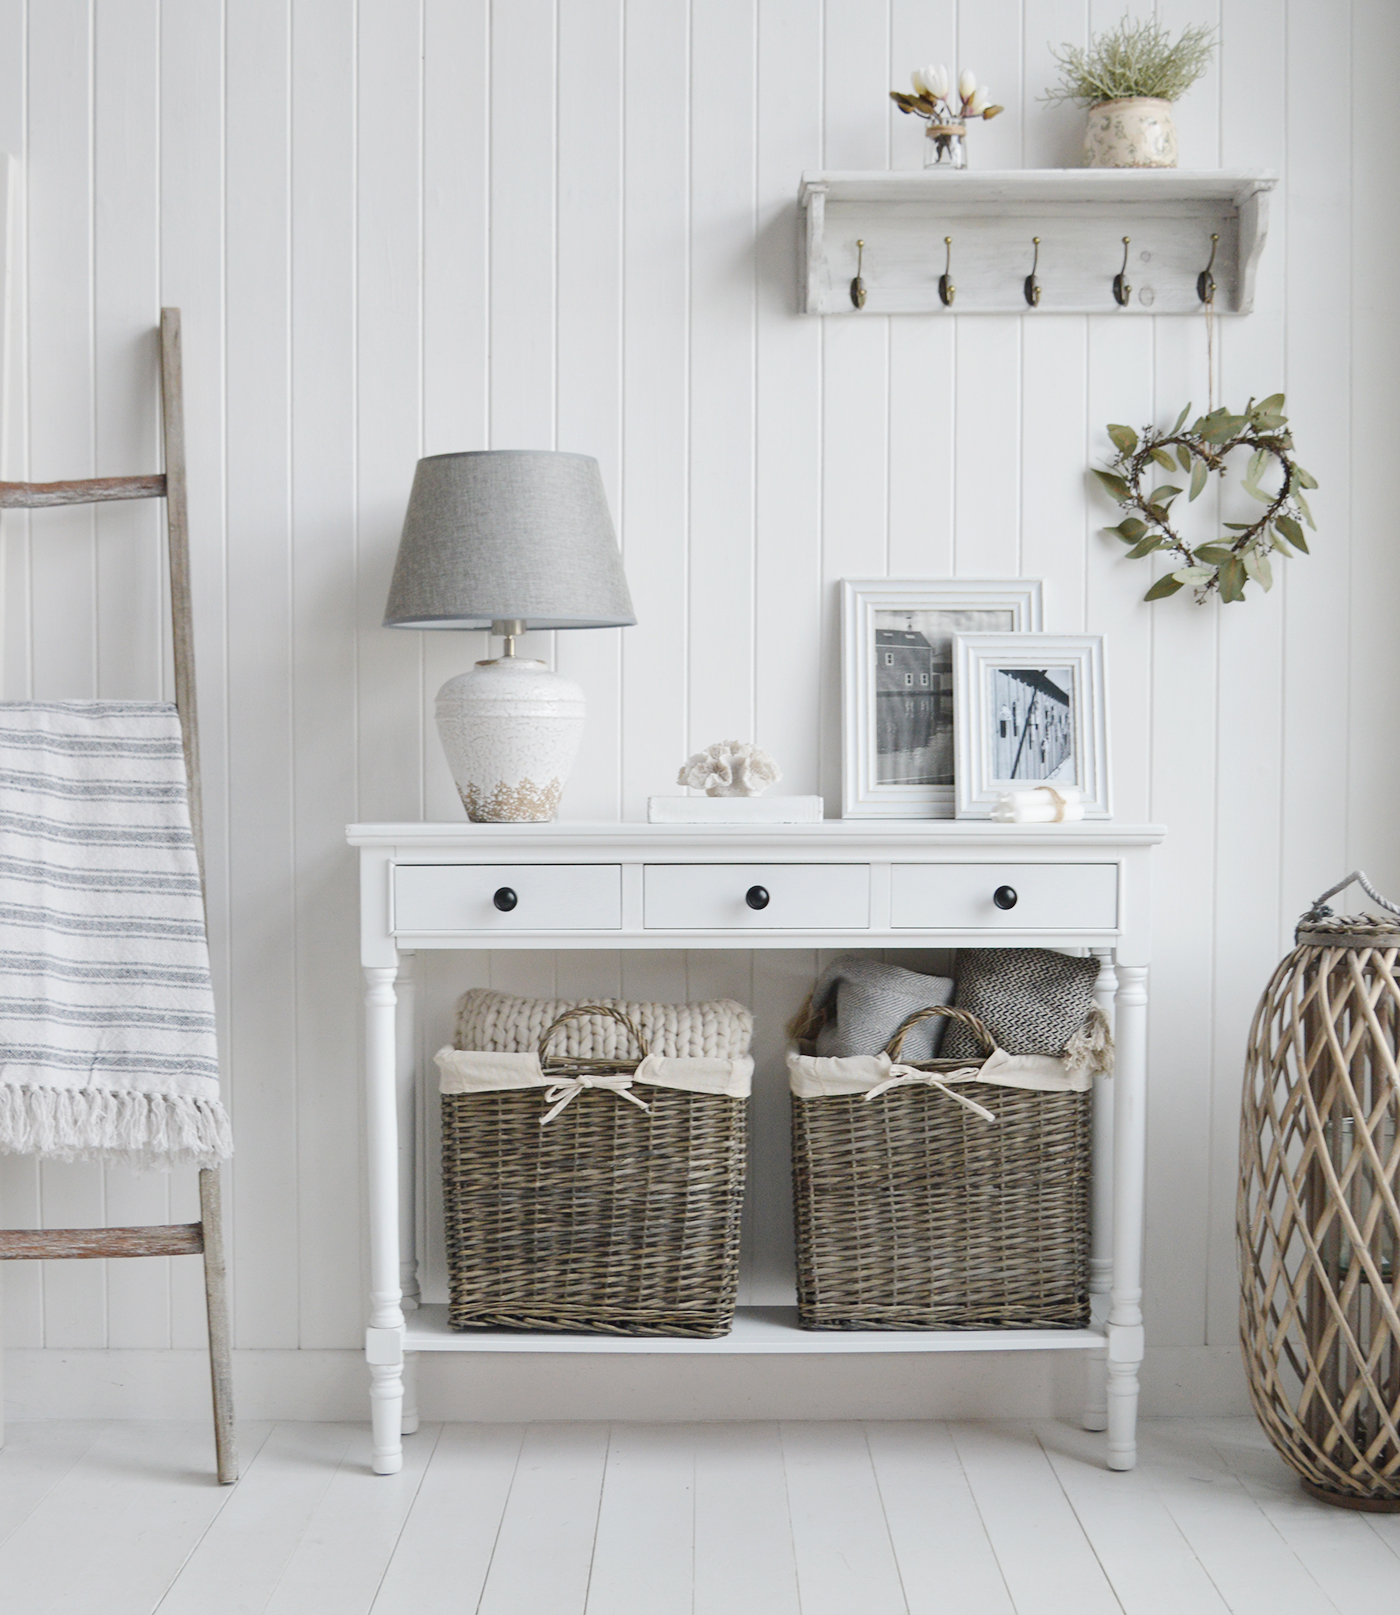
{"label": "wicker basket and handle, below the chunky cream knitted throw", "polygon": [[[555,1029],[609,1014],[636,1059],[549,1056]],[[646,1045],[580,1006],[539,1042],[544,1074],[630,1077]],[[715,1337],[733,1326],[748,1101],[651,1084],[442,1095],[454,1329]],[[543,1124],[543,1118],[554,1114]]]}

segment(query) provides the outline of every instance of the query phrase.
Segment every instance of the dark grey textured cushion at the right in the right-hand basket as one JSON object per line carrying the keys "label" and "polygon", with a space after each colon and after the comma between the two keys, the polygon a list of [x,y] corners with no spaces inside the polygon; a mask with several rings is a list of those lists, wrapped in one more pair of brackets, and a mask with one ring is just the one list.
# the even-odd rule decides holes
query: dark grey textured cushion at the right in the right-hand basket
{"label": "dark grey textured cushion at the right in the right-hand basket", "polygon": [[[970,1009],[1008,1055],[1058,1055],[1093,1008],[1098,959],[1048,948],[961,948],[953,1003]],[[966,1027],[949,1026],[945,1059],[980,1055]]]}

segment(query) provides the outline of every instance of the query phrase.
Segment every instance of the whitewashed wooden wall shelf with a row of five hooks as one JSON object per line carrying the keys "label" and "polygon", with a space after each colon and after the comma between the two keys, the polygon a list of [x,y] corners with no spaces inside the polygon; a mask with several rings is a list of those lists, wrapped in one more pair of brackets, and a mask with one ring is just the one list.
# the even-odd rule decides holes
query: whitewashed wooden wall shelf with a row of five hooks
{"label": "whitewashed wooden wall shelf with a row of five hooks", "polygon": [[[1248,313],[1274,174],[1180,168],[914,170],[803,174],[804,313],[1200,313],[1197,279],[1219,236],[1218,313]],[[945,237],[951,236],[949,249]],[[1040,236],[1040,302],[1025,299]],[[1125,304],[1114,276],[1129,237]],[[857,247],[864,308],[851,299]],[[938,278],[951,270],[945,305]]]}

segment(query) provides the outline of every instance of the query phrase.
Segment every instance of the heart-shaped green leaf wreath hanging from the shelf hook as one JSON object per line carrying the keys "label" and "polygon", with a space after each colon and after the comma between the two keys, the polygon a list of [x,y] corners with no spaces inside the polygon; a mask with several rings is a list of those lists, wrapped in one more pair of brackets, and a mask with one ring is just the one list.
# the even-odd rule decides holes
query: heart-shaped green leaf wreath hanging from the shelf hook
{"label": "heart-shaped green leaf wreath hanging from the shelf hook", "polygon": [[[1125,520],[1108,531],[1132,546],[1127,552],[1129,560],[1138,560],[1159,549],[1180,557],[1182,565],[1158,578],[1143,599],[1159,601],[1176,594],[1177,589],[1195,588],[1197,604],[1205,602],[1211,593],[1219,593],[1222,601],[1240,601],[1250,580],[1263,589],[1274,586],[1269,567],[1269,556],[1274,551],[1282,556],[1292,556],[1295,551],[1308,554],[1303,522],[1314,531],[1316,525],[1303,489],[1318,484],[1293,459],[1293,438],[1284,415],[1282,392],[1274,392],[1260,404],[1250,399],[1240,415],[1218,409],[1185,426],[1190,410],[1187,404],[1171,431],[1143,426],[1138,436],[1132,426],[1108,428],[1117,455],[1109,462],[1109,470],[1095,470],[1093,475],[1129,512]],[[1153,467],[1169,475],[1182,472],[1190,478],[1187,491],[1190,502],[1205,491],[1211,472],[1226,475],[1226,455],[1234,449],[1253,451],[1243,488],[1266,509],[1253,523],[1226,522],[1226,530],[1234,535],[1230,539],[1192,546],[1176,531],[1171,520],[1172,501],[1179,499],[1184,489],[1174,483],[1158,483],[1146,491],[1143,480],[1156,481]],[[1277,465],[1282,473],[1277,493],[1260,486],[1260,478],[1271,465]]]}

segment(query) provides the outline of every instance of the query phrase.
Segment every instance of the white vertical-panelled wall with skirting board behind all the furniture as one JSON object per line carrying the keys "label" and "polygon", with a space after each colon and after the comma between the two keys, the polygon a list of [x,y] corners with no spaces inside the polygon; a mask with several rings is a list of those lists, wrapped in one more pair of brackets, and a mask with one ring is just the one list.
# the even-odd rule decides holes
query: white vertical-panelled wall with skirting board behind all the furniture
{"label": "white vertical-panelled wall with skirting board behind all the furniture", "polygon": [[[1222,396],[1285,389],[1313,559],[1266,599],[1148,607],[1101,533],[1104,423],[1206,399],[1188,318],[794,313],[804,168],[912,168],[887,92],[970,65],[977,168],[1069,165],[1048,44],[1121,0],[0,0],[18,165],[3,472],[157,462],[184,312],[210,906],[241,1412],[362,1410],[358,971],[347,820],[455,819],[438,685],[481,636],[378,627],[420,454],[597,455],[638,627],[541,635],[589,730],[576,819],[639,819],[685,754],[754,738],[840,811],[836,580],[1038,577],[1108,636],[1119,814],[1163,820],[1153,969],[1150,1412],[1240,1408],[1240,1059],[1293,916],[1400,887],[1400,142],[1394,0],[1161,0],[1221,26],[1184,166],[1282,173]],[[1137,6],[1143,10],[1142,5]],[[1050,273],[1042,262],[1042,275]],[[168,691],[155,509],[6,514],[6,698]],[[1253,594],[1255,591],[1251,591]],[[811,954],[434,959],[433,1032],[489,980],[728,992],[780,1017]],[[782,1171],[782,1161],[770,1163]],[[0,1221],[192,1216],[187,1177],[0,1163]],[[770,1231],[780,1237],[780,1231]],[[772,1240],[770,1240],[772,1242]],[[194,1261],[10,1265],[11,1415],[199,1412]],[[107,1347],[105,1353],[92,1349]],[[446,1361],[428,1416],[1040,1413],[1069,1368]]]}

